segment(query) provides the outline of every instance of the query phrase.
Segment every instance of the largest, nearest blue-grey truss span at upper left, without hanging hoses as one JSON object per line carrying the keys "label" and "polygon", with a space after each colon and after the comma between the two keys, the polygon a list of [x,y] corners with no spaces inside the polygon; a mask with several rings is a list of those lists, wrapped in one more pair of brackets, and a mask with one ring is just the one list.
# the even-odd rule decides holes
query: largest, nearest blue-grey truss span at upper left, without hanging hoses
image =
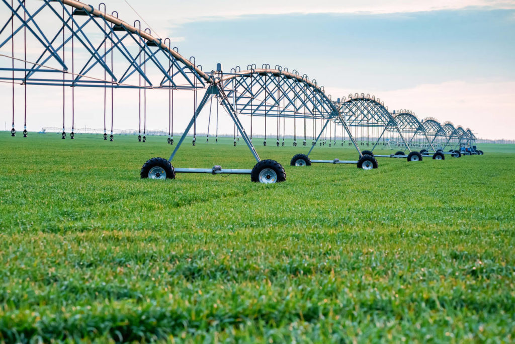
{"label": "largest, nearest blue-grey truss span at upper left, without hanging hoses", "polygon": [[[212,81],[194,58],[186,59],[177,48],[171,48],[169,39],[152,36],[150,30],[141,29],[139,21],[130,25],[118,19],[116,11],[108,14],[104,4],[101,4],[104,10],[100,10],[74,0],[30,4],[15,0],[13,6],[7,0],[2,1],[12,15],[0,29],[0,48],[9,42],[14,44],[14,37],[24,32],[39,46],[30,46],[26,60],[3,55],[27,65],[14,71],[12,67],[0,68],[0,73],[18,74],[16,77],[0,74],[0,80],[72,87],[190,90],[205,88]],[[41,22],[59,25],[43,27],[38,24]],[[11,25],[13,30],[8,29]],[[64,49],[71,46],[75,50],[72,61],[69,51],[67,58],[63,57]],[[73,60],[74,55],[87,58]]]}

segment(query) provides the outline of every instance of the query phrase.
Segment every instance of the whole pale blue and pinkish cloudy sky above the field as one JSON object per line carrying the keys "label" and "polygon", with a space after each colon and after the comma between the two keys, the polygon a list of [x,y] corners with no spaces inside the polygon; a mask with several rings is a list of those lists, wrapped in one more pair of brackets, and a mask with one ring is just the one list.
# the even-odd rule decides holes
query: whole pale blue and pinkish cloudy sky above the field
{"label": "whole pale blue and pinkish cloudy sky above the field", "polygon": [[[153,35],[171,37],[172,45],[185,57],[195,56],[204,70],[218,62],[226,71],[250,63],[295,68],[324,85],[333,99],[369,93],[390,110],[451,121],[486,139],[515,139],[515,1],[156,0],[149,6],[113,0],[108,6],[130,23],[141,16]],[[6,18],[5,8],[0,11]],[[8,85],[0,91],[6,104]],[[45,92],[33,91],[31,99],[52,107]],[[99,95],[87,92],[90,99]],[[155,104],[163,100],[159,95],[150,105],[155,115],[148,128],[167,127],[166,114]],[[31,109],[38,109],[31,117],[33,130],[60,126],[59,110]],[[115,117],[128,112],[118,105]],[[10,116],[9,108],[0,115],[8,128]],[[178,117],[176,128],[184,127],[188,116]],[[114,126],[135,128],[132,119],[118,119]],[[76,121],[103,126],[97,115]]]}

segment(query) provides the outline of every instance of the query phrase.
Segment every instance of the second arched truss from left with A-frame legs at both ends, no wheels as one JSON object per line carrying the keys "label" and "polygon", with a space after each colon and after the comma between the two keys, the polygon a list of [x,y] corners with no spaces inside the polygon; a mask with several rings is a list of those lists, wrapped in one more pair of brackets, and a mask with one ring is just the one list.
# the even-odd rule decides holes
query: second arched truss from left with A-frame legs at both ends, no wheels
{"label": "second arched truss from left with A-frame legs at both ends, no wheels", "polygon": [[[301,77],[296,71],[290,73],[280,66],[276,66],[274,69],[269,68],[269,65],[263,65],[264,68],[259,69],[252,68],[253,66],[255,65],[249,65],[251,68],[247,71],[241,71],[241,68],[237,67],[233,68],[229,74],[224,74],[221,71],[213,74],[213,82],[208,87],[197,111],[171,153],[169,161],[174,159],[186,134],[195,123],[202,108],[212,97],[216,97],[222,108],[231,116],[243,141],[258,162],[261,161],[261,158],[239,120],[241,115],[324,119],[325,124],[308,154],[315,147],[329,121],[339,117],[345,122],[331,99],[325,95],[323,87],[319,87],[316,81],[310,81],[305,75]],[[361,156],[361,150],[354,141],[352,134],[347,127],[346,130]]]}

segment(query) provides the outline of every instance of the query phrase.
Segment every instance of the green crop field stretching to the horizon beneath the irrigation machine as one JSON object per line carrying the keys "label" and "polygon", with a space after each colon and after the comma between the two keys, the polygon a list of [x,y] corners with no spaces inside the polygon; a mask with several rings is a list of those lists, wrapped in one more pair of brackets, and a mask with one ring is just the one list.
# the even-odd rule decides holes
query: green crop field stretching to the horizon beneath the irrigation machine
{"label": "green crop field stretching to the horizon beneath the irrigation machine", "polygon": [[[515,340],[514,145],[365,171],[288,143],[258,147],[284,183],[140,179],[165,141],[0,133],[0,342]],[[255,164],[203,141],[174,166]]]}

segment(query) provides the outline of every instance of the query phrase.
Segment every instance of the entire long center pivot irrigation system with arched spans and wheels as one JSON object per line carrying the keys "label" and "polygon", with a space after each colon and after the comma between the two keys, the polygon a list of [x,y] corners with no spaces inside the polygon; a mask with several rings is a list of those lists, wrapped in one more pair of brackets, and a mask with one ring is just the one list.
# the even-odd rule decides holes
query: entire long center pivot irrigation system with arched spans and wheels
{"label": "entire long center pivot irrigation system with arched spans and wheels", "polygon": [[[137,92],[138,142],[146,141],[147,92],[164,90],[168,95],[167,142],[171,145],[175,143],[174,93],[193,92],[193,115],[170,158],[148,160],[141,169],[142,178],[173,179],[176,173],[209,173],[250,174],[252,181],[261,183],[284,181],[286,174],[282,165],[274,160],[262,160],[253,141],[259,137],[264,146],[282,147],[287,125],[293,125],[293,145],[305,146],[308,150],[291,159],[293,166],[332,163],[372,169],[377,168],[376,157],[420,161],[430,154],[433,159],[443,160],[444,154],[460,157],[461,153],[483,153],[476,150],[476,137],[470,129],[454,127],[450,122],[442,126],[434,118],[420,122],[407,110],[390,113],[379,98],[368,94],[351,94],[334,101],[315,80],[305,74],[301,76],[296,70],[290,72],[278,65],[271,68],[268,64],[258,68],[251,64],[245,71],[236,67],[225,73],[218,64],[216,71],[205,73],[194,57],[184,58],[178,48],[172,48],[170,39],[152,36],[150,29],[141,28],[139,20],[131,25],[118,19],[118,13],[108,13],[104,3],[95,9],[74,0],[2,2],[9,9],[9,17],[0,28],[0,82],[12,83],[12,136],[16,135],[14,114],[19,104],[15,101],[15,84],[23,87],[24,137],[28,135],[27,87],[52,85],[62,89],[62,139],[66,139],[66,131],[70,139],[75,139],[75,88],[102,88],[106,141],[114,140],[115,90],[135,89]],[[197,96],[198,92],[201,97]],[[252,169],[174,168],[171,164],[192,129],[192,145],[197,144],[197,119],[208,106],[206,141],[209,142],[213,100],[216,102],[215,142],[218,141],[218,108],[221,107],[234,123],[234,146],[241,137],[255,158]],[[68,108],[71,105],[69,129],[65,126],[66,105]],[[255,121],[261,121],[259,128],[264,123],[264,137],[260,130],[255,130]],[[267,126],[276,129],[276,137],[267,137]],[[247,132],[246,128],[250,130]],[[342,147],[356,149],[356,161],[311,160],[310,154],[317,144],[331,147],[340,140]],[[376,147],[402,150],[374,156]],[[415,147],[424,149],[418,152]],[[444,152],[446,148],[450,151]]]}

